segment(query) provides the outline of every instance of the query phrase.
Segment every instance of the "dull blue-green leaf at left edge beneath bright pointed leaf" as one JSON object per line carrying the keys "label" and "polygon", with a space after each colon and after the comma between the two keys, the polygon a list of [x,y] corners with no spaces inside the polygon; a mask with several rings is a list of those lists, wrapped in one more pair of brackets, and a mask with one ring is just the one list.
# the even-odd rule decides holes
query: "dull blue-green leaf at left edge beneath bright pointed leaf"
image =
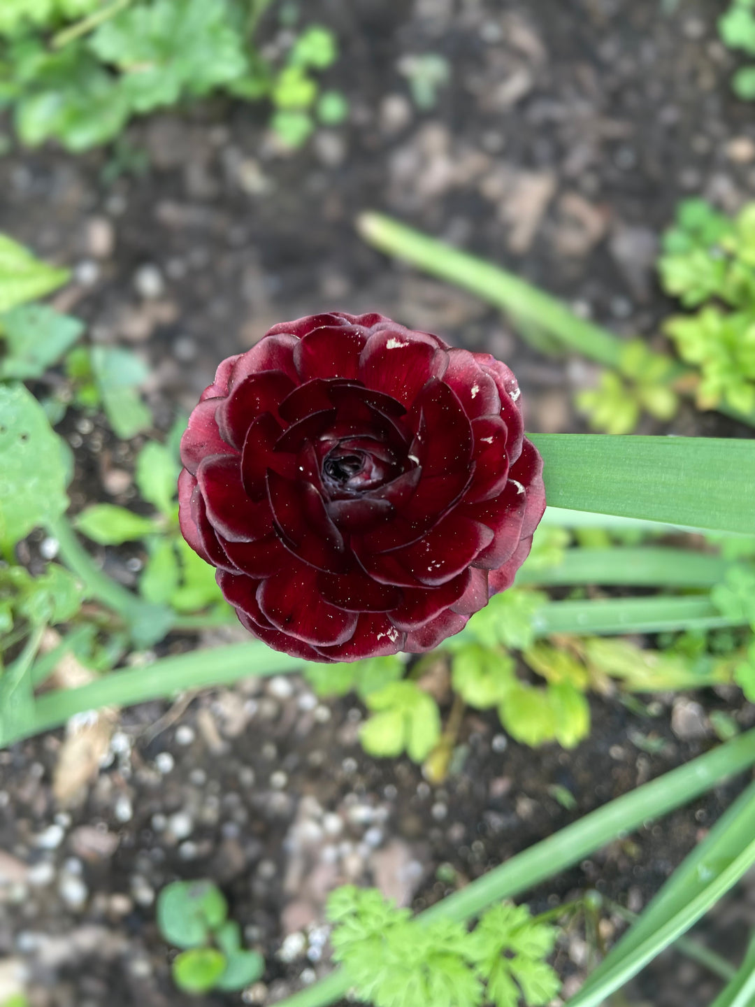
{"label": "dull blue-green leaf at left edge beneath bright pointed leaf", "polygon": [[5,353],[0,361],[0,377],[27,381],[41,378],[56,364],[84,331],[78,318],[45,304],[19,305],[0,316],[0,335]]}

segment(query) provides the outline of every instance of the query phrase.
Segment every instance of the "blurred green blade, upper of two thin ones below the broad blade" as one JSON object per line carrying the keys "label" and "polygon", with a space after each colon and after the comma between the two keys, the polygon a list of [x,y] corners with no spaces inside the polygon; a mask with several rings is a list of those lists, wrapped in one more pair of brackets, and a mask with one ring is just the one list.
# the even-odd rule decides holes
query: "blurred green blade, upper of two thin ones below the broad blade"
{"label": "blurred green blade, upper of two thin ones below the broad blade", "polygon": [[530,569],[524,564],[516,575],[516,584],[711,587],[724,579],[730,566],[720,556],[685,549],[569,549],[558,566]]}

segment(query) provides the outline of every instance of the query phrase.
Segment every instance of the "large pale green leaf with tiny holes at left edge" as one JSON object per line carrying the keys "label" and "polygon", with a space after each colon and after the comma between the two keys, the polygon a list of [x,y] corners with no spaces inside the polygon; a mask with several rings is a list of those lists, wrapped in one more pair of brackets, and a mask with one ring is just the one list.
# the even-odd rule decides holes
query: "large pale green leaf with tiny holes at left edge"
{"label": "large pale green leaf with tiny holes at left edge", "polygon": [[7,553],[68,505],[64,447],[23,385],[0,385],[0,549]]}

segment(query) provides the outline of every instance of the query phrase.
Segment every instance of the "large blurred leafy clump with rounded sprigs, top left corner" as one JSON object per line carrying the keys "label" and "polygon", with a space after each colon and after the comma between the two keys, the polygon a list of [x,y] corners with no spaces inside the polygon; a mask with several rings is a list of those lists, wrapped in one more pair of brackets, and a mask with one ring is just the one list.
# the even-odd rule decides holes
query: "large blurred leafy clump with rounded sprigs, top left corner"
{"label": "large blurred leafy clump with rounded sprigs, top left corner", "polygon": [[[298,146],[315,128],[312,74],[335,60],[335,36],[311,25],[275,66],[251,48],[249,14],[247,0],[3,0],[0,100],[14,106],[23,143],[54,139],[81,151],[115,140],[133,116],[185,99],[267,98],[273,128]],[[45,33],[55,31],[50,44]],[[344,115],[342,104],[318,107],[331,125]]]}

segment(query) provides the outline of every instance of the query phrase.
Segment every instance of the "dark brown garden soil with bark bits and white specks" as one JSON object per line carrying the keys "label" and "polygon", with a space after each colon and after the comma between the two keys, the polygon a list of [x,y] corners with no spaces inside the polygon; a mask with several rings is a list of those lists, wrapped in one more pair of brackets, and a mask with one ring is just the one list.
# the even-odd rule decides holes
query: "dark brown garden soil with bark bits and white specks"
{"label": "dark brown garden soil with bark bits and white specks", "polygon": [[[365,208],[393,212],[509,265],[617,331],[654,338],[667,310],[655,247],[675,203],[702,193],[733,209],[755,188],[752,108],[729,94],[733,60],[715,32],[721,5],[690,0],[667,15],[660,6],[312,0],[307,16],[311,8],[341,40],[332,84],[349,95],[348,126],[284,156],[263,112],[218,104],[134,126],[131,154],[122,149],[118,160],[15,152],[0,162],[0,223],[76,269],[62,300],[94,340],[149,359],[162,429],[191,407],[219,358],[275,321],[338,307],[382,310],[495,352],[519,378],[531,430],[579,430],[571,393],[591,381],[588,365],[522,347],[481,302],[367,249],[353,220]],[[274,40],[273,29],[263,26],[263,36]],[[449,58],[453,83],[419,114],[399,62],[426,51]],[[106,184],[103,170],[127,169],[139,161],[134,151],[146,152],[144,171]],[[644,432],[735,428],[690,410],[669,430]],[[128,505],[129,456],[110,451],[107,432],[86,419],[68,439],[73,508]],[[119,555],[124,581],[134,559]],[[298,680],[123,713],[110,765],[68,810],[50,787],[61,732],[18,745],[0,753],[0,989],[3,969],[21,962],[33,1007],[183,1003],[153,899],[175,877],[209,876],[268,957],[265,985],[249,1002],[272,1002],[319,974],[318,931],[308,949],[290,934],[320,921],[334,884],[379,883],[421,908],[704,750],[714,739],[706,712],[725,699],[710,693],[696,697],[700,708],[683,700],[674,711],[661,698],[655,716],[596,700],[593,733],[573,752],[506,743],[493,718],[468,716],[465,757],[441,787],[411,763],[365,757],[357,706],[319,704]],[[749,709],[738,716],[753,719]],[[554,785],[573,794],[574,809]],[[737,788],[560,876],[535,893],[534,907],[595,887],[641,908]],[[707,930],[715,947],[731,954],[744,944],[754,900],[743,885],[723,905]],[[608,914],[605,940],[614,926]],[[577,976],[588,954],[576,927],[558,964]],[[715,990],[669,953],[631,1002],[703,1007]]]}

